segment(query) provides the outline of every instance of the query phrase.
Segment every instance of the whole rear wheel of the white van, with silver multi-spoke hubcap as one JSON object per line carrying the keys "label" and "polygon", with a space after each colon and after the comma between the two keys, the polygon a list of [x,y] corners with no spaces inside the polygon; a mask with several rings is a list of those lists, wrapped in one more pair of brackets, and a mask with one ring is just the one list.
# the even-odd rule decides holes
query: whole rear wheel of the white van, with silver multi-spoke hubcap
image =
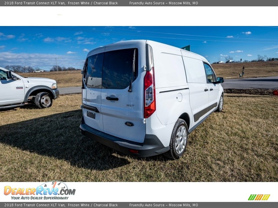
{"label": "whole rear wheel of the white van, with silver multi-spoke hubcap", "polygon": [[171,140],[170,140],[170,150],[165,154],[166,157],[170,159],[179,159],[186,148],[188,139],[188,127],[183,119],[178,119],[175,123]]}

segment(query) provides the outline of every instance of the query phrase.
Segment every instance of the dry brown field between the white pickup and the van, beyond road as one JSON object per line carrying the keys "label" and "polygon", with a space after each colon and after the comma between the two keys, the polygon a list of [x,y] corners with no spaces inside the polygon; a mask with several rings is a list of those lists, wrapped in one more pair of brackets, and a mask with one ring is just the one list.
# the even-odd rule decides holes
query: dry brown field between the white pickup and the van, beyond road
{"label": "dry brown field between the white pickup and the van, beyond road", "polygon": [[82,75],[80,70],[59,71],[59,72],[40,72],[40,73],[19,73],[22,77],[44,77],[54,79],[58,88],[82,86]]}

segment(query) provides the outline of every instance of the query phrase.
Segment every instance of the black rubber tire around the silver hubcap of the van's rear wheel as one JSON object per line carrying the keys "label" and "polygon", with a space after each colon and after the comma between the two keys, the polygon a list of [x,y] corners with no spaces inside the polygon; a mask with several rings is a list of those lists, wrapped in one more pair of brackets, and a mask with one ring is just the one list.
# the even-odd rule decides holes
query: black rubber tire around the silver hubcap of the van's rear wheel
{"label": "black rubber tire around the silver hubcap of the van's rear wheel", "polygon": [[[181,129],[185,130],[184,133],[186,134],[186,140],[185,140],[185,144],[184,144],[183,150],[180,153],[178,153],[177,152],[178,150],[176,151],[175,141],[176,141],[176,137],[178,137],[177,133]],[[183,153],[184,153],[184,151],[186,149],[187,140],[188,140],[188,127],[186,125],[186,122],[183,119],[179,118],[177,120],[177,122],[175,123],[174,129],[172,131],[171,140],[170,140],[170,144],[169,144],[170,150],[168,152],[164,153],[164,155],[166,157],[170,158],[170,159],[173,159],[173,160],[179,159],[183,155]],[[180,140],[180,141],[182,141],[182,140]]]}

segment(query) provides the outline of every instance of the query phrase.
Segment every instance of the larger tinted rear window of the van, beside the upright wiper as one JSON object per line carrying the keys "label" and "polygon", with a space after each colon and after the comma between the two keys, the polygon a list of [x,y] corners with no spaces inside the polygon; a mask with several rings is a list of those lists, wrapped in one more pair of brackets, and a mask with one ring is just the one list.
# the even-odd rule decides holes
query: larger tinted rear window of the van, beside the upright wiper
{"label": "larger tinted rear window of the van, beside the upright wiper", "polygon": [[104,54],[102,87],[105,89],[125,89],[129,86],[133,74],[133,56],[135,50],[135,74],[138,73],[138,49],[121,49]]}

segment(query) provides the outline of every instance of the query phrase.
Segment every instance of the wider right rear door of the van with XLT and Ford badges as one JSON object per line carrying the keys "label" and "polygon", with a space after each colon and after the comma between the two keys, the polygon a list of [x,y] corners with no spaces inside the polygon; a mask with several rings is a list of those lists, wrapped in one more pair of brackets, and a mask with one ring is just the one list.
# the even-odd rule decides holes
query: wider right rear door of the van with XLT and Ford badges
{"label": "wider right rear door of the van with XLT and Ford badges", "polygon": [[[141,48],[140,48],[141,46]],[[101,113],[104,132],[143,143],[143,79],[145,44],[106,47],[103,59]],[[144,51],[142,51],[145,54]],[[138,70],[139,68],[139,70]],[[132,80],[132,88],[130,83]],[[132,91],[132,92],[129,92]]]}

